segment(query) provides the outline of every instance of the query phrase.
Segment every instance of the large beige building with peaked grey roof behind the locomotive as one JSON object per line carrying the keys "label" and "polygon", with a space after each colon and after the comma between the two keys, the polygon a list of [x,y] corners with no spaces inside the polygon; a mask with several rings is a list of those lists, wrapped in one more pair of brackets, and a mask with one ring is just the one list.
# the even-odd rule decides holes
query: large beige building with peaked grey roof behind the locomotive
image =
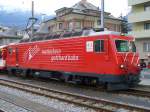
{"label": "large beige building with peaked grey roof behind the locomotive", "polygon": [[[56,17],[43,22],[48,27],[48,31],[64,32],[78,31],[84,28],[100,28],[100,9],[87,0],[81,0],[74,6],[63,7],[55,11]],[[121,31],[121,22],[119,18],[113,17],[105,12],[105,28],[111,31]]]}

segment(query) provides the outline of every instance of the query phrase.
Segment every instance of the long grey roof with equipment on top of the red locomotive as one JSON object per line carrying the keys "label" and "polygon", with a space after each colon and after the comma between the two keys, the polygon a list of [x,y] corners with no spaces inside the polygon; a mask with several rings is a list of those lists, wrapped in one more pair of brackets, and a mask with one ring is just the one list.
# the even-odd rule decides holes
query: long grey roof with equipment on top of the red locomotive
{"label": "long grey roof with equipment on top of the red locomotive", "polygon": [[87,37],[87,36],[98,36],[98,35],[121,35],[120,32],[114,31],[96,31],[93,29],[82,30],[79,32],[65,32],[65,33],[53,33],[48,35],[39,35],[33,38],[26,38],[20,41],[24,42],[34,42],[34,41],[43,41],[43,40],[52,40],[52,39],[63,39],[63,38],[75,38],[75,37]]}

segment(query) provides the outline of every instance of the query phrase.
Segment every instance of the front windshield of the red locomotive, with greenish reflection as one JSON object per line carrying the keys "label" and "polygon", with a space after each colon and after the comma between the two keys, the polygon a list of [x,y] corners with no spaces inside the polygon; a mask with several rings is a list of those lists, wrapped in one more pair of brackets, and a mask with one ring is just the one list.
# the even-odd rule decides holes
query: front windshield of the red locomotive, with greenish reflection
{"label": "front windshield of the red locomotive, with greenish reflection", "polygon": [[118,52],[129,52],[129,51],[136,52],[134,42],[129,42],[126,40],[116,40],[115,44]]}

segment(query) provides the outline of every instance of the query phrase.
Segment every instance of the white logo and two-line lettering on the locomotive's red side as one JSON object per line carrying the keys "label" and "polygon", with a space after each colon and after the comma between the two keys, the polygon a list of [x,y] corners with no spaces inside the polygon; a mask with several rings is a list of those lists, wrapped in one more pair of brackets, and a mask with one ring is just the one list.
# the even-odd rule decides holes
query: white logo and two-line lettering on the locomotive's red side
{"label": "white logo and two-line lettering on the locomotive's red side", "polygon": [[[41,52],[40,52],[41,51]],[[34,58],[37,54],[41,53],[41,55],[50,55],[50,61],[77,61],[79,60],[79,56],[76,56],[75,54],[67,54],[62,55],[61,49],[44,49],[41,50],[37,45],[34,47],[30,47],[25,53],[24,53],[24,62],[28,62]]]}

